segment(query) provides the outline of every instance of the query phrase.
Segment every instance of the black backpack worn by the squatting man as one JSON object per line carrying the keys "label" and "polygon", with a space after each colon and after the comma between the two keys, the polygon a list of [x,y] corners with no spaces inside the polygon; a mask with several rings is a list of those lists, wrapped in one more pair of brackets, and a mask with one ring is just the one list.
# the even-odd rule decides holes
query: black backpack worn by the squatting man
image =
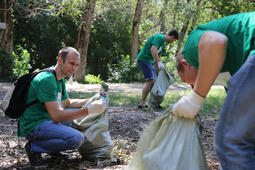
{"label": "black backpack worn by the squatting man", "polygon": [[2,110],[5,116],[17,119],[24,113],[26,108],[39,102],[39,100],[35,100],[25,105],[31,81],[43,71],[52,72],[56,77],[56,72],[53,68],[45,68],[24,74],[14,82],[2,101]]}

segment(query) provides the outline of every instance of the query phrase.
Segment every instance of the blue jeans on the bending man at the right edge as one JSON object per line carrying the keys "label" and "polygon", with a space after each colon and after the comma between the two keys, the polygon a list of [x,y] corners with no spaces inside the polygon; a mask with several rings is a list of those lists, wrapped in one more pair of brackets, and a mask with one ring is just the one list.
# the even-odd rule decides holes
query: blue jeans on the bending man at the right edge
{"label": "blue jeans on the bending man at the right edge", "polygon": [[215,129],[215,149],[223,170],[255,169],[255,55],[229,79]]}

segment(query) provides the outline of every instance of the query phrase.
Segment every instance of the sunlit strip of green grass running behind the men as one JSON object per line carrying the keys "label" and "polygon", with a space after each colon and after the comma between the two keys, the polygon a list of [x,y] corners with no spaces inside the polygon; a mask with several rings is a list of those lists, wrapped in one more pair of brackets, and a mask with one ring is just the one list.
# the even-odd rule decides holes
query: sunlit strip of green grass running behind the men
{"label": "sunlit strip of green grass running behind the men", "polygon": [[[161,106],[167,108],[176,103],[182,96],[188,95],[192,90],[185,90],[180,92],[167,92],[165,99]],[[96,93],[81,93],[81,92],[69,92],[70,98],[90,98]],[[110,106],[120,107],[137,107],[142,92],[109,92]],[[200,111],[200,114],[216,116],[219,114],[223,102],[226,98],[226,92],[223,89],[211,89],[207,95],[205,103]],[[147,97],[147,103],[149,101],[149,95]]]}

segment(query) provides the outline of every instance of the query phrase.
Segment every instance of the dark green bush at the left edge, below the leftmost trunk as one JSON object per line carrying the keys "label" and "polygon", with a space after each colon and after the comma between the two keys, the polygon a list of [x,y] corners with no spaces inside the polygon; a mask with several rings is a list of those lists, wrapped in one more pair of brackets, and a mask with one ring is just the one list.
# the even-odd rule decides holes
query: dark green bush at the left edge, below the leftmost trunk
{"label": "dark green bush at the left edge, below the leftmost trunk", "polygon": [[12,81],[12,56],[9,56],[6,51],[0,48],[0,81]]}

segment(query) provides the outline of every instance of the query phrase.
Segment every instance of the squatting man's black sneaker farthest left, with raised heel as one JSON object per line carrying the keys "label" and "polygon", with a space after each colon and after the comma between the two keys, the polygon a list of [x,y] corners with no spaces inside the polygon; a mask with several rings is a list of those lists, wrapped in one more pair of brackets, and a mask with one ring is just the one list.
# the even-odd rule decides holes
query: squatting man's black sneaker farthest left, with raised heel
{"label": "squatting man's black sneaker farthest left, with raised heel", "polygon": [[41,168],[48,166],[48,163],[43,161],[41,153],[31,152],[31,142],[28,142],[25,145],[25,151],[27,153],[27,157],[31,166],[41,167]]}

